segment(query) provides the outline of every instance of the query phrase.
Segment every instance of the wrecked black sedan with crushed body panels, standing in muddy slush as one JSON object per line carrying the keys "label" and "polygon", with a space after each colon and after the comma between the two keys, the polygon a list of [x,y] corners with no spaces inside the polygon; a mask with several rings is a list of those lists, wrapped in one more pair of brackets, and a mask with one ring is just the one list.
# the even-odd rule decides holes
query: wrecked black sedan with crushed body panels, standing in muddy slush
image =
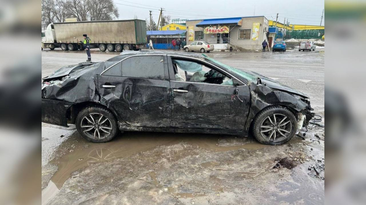
{"label": "wrecked black sedan with crushed body panels, standing in muddy slush", "polygon": [[205,55],[122,52],[42,83],[42,122],[100,143],[119,131],[217,133],[282,144],[313,117],[308,97]]}

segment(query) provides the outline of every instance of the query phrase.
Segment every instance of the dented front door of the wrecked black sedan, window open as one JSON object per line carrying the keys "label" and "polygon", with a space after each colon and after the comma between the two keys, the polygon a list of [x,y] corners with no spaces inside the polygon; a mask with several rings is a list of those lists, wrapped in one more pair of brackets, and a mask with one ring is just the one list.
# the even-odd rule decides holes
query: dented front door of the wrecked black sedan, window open
{"label": "dented front door of the wrecked black sedan, window open", "polygon": [[[172,90],[171,127],[183,129],[205,130],[242,130],[246,122],[250,106],[250,92],[248,86],[234,80],[238,86],[193,82],[189,78],[177,81],[175,73],[184,73],[187,68],[180,67],[179,71],[172,60],[185,60],[193,64],[214,69],[225,76],[213,65],[193,58],[168,56],[169,78]],[[189,64],[189,65],[193,65]],[[193,65],[193,67],[195,67]],[[187,72],[186,72],[187,74]],[[235,89],[239,91],[239,98],[232,98]]]}

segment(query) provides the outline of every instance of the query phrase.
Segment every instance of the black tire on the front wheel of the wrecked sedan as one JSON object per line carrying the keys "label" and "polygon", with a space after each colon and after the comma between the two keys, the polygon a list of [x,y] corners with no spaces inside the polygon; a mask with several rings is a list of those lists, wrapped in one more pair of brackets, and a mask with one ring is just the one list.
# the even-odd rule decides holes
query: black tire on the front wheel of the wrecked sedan
{"label": "black tire on the front wheel of the wrecked sedan", "polygon": [[[282,121],[281,124],[284,124],[287,121],[290,122],[290,124],[287,122],[287,124],[285,124],[283,126],[279,126],[281,119],[283,119],[284,116],[286,118],[284,119],[284,121]],[[270,119],[268,120],[268,117],[272,118],[272,121],[270,121]],[[275,122],[274,118],[277,118],[276,122]],[[273,124],[275,124],[275,125],[267,124],[268,121],[270,121],[271,123],[273,122]],[[283,106],[271,106],[271,107],[266,107],[265,109],[260,111],[258,113],[257,117],[255,117],[254,122],[253,122],[253,127],[252,127],[252,133],[253,133],[253,136],[255,137],[255,139],[257,139],[258,142],[261,144],[269,144],[269,145],[284,144],[284,143],[287,143],[288,141],[290,141],[292,139],[292,137],[295,136],[296,125],[297,125],[297,122],[296,122],[295,115],[289,109],[287,109],[286,107],[283,107]],[[275,129],[275,132],[273,132],[272,130],[263,132],[266,129],[268,130],[268,128],[270,129],[271,127],[272,127],[272,130]],[[280,129],[280,131],[279,131],[279,129]],[[283,130],[287,130],[287,132],[289,132],[289,133],[284,132]],[[273,137],[270,136],[271,134]],[[266,135],[268,135],[268,136],[266,136]],[[276,135],[276,141],[274,141],[275,135]],[[265,137],[267,137],[267,138],[269,137],[269,138],[266,139]],[[273,141],[270,141],[272,139],[273,139]]]}

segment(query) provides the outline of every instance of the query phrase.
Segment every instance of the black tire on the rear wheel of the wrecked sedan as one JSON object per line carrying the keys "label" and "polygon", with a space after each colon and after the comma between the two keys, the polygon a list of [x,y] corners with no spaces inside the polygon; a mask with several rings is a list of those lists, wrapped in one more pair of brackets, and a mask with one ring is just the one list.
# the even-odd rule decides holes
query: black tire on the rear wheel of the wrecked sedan
{"label": "black tire on the rear wheel of the wrecked sedan", "polygon": [[[93,118],[91,118],[91,116]],[[104,121],[107,119],[103,124],[99,124],[98,126],[94,126],[90,123],[90,121],[96,122],[99,117],[101,117],[101,121]],[[87,118],[85,118],[87,117]],[[94,119],[95,118],[95,119]],[[98,118],[98,119],[97,119]],[[89,121],[90,120],[90,121]],[[83,128],[84,126],[94,126],[94,127],[87,127]],[[115,116],[111,113],[111,111],[98,106],[90,106],[86,107],[82,111],[79,112],[78,116],[76,117],[75,121],[76,129],[80,133],[80,135],[85,138],[86,140],[89,140],[93,143],[105,143],[108,141],[111,141],[118,133],[118,126],[117,126],[117,120]],[[98,128],[98,130],[96,130]],[[107,129],[108,128],[108,129]],[[109,129],[111,128],[111,129]],[[85,130],[91,129],[90,131],[85,132]],[[105,131],[109,131],[109,134]],[[92,134],[95,134],[96,138],[92,136]],[[102,136],[102,138],[98,138],[97,136]]]}

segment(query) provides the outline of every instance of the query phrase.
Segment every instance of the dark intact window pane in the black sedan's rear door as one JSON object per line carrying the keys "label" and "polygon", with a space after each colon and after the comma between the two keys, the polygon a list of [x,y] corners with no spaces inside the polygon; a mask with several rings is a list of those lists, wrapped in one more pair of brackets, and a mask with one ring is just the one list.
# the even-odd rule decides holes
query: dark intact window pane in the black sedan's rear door
{"label": "dark intact window pane in the black sedan's rear door", "polygon": [[135,56],[122,61],[122,76],[164,80],[164,56]]}

